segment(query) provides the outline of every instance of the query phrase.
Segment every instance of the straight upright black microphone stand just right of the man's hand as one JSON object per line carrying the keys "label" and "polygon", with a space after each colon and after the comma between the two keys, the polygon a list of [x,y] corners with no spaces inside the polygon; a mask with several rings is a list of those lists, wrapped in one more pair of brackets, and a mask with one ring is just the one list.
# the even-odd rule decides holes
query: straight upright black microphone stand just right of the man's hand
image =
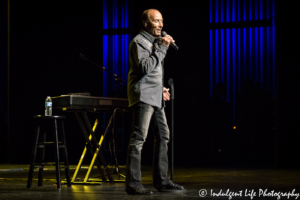
{"label": "straight upright black microphone stand just right of the man's hand", "polygon": [[174,84],[173,79],[169,79],[169,86],[171,87],[171,108],[172,108],[172,125],[171,125],[171,180],[174,177]]}

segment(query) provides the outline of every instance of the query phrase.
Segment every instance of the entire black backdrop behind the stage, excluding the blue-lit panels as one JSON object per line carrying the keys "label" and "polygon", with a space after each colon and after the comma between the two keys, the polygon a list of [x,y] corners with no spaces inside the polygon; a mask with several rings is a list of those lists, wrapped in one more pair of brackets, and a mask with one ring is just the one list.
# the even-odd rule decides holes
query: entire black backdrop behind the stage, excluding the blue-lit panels
{"label": "entire black backdrop behind the stage, excluding the blue-lit panels", "polygon": [[[245,129],[234,131],[230,129],[232,124],[228,124],[229,128],[218,136],[225,138],[222,153],[215,153],[218,148],[211,141],[219,138],[213,138],[211,133],[215,127],[211,125],[213,111],[209,106],[209,1],[134,0],[130,5],[132,37],[139,32],[141,13],[156,8],[164,17],[164,30],[180,47],[178,52],[170,49],[165,60],[165,80],[172,77],[176,87],[176,166],[297,167],[300,41],[296,31],[299,19],[296,6],[279,1],[275,4],[276,131],[264,134],[260,130],[254,134]],[[1,21],[1,30],[5,31],[6,25]],[[101,70],[78,57],[83,53],[101,65],[101,26],[102,1],[71,5],[11,2],[9,68],[1,62],[1,81],[5,80],[3,74],[9,71],[8,84],[1,82],[0,103],[4,113],[0,130],[1,162],[29,163],[32,116],[43,114],[46,96],[69,92],[102,95]],[[1,34],[5,44],[6,34],[3,31]],[[6,55],[5,52],[5,45],[1,46],[1,54]],[[5,120],[6,88],[9,88],[9,120]],[[59,111],[54,113],[60,114]],[[167,113],[170,119],[170,104],[167,104]],[[75,117],[70,113],[66,115],[70,163],[77,164],[85,142]],[[260,123],[267,121],[262,119]],[[7,126],[9,132],[5,130]],[[125,131],[124,136],[122,142],[127,146],[129,131]],[[144,146],[143,164],[151,164],[152,141],[150,134]],[[105,154],[109,158],[109,152]],[[121,164],[125,164],[125,155],[126,147],[119,153]]]}

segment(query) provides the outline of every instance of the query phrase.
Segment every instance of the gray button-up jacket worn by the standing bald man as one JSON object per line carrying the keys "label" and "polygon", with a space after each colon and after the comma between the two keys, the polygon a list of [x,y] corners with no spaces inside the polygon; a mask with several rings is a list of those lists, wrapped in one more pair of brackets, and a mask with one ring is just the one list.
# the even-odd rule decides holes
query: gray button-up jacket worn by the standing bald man
{"label": "gray button-up jacket worn by the standing bald man", "polygon": [[163,62],[168,47],[160,44],[145,30],[133,38],[129,46],[130,71],[127,94],[129,107],[142,101],[164,107]]}

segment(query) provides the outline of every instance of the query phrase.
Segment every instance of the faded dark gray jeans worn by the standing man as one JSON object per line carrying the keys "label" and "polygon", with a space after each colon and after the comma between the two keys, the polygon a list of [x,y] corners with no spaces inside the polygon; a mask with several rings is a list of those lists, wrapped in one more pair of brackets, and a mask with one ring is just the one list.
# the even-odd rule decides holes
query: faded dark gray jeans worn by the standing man
{"label": "faded dark gray jeans worn by the standing man", "polygon": [[141,184],[141,151],[150,124],[153,126],[151,128],[154,128],[153,185],[160,185],[169,181],[168,142],[170,132],[164,108],[139,102],[133,106],[133,131],[127,153],[126,190],[143,189]]}

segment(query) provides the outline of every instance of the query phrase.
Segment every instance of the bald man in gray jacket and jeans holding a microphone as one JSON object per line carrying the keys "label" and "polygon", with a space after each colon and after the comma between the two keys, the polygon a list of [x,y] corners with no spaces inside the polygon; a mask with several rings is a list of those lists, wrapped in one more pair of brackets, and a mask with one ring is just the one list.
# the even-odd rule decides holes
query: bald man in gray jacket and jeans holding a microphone
{"label": "bald man in gray jacket and jeans holding a microphone", "polygon": [[[141,184],[141,151],[149,126],[154,129],[153,186],[158,191],[184,190],[168,176],[169,128],[165,101],[170,100],[163,87],[164,58],[173,38],[161,37],[163,18],[155,9],[143,12],[142,30],[129,46],[128,100],[133,108],[133,131],[128,146],[126,191],[128,194],[153,194]],[[150,123],[151,122],[151,123]]]}

